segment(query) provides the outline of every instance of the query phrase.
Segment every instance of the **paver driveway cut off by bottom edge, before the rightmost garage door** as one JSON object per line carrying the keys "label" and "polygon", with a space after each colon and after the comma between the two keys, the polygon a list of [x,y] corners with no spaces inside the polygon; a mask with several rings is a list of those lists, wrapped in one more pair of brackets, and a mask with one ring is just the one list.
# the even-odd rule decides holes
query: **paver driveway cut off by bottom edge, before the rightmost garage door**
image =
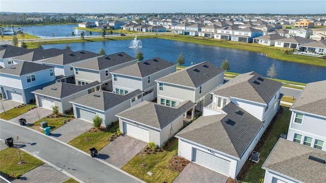
{"label": "paver driveway cut off by bottom edge, before the rightmost garage door", "polygon": [[189,163],[173,183],[187,182],[219,182],[225,183],[228,176],[215,172],[196,163]]}

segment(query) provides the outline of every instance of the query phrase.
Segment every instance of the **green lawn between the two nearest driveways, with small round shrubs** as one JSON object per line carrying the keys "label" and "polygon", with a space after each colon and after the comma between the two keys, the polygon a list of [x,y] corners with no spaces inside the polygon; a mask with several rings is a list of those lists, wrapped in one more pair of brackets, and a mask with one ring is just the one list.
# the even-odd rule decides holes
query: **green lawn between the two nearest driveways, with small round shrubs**
{"label": "green lawn between the two nearest driveways, with small round shrubs", "polygon": [[[146,182],[172,182],[179,175],[179,172],[173,171],[169,167],[169,162],[177,149],[178,141],[175,141],[163,152],[145,154],[144,163],[147,166],[144,168],[140,166],[143,163],[142,155],[137,154],[121,169]],[[152,172],[153,175],[148,175],[148,171]]]}

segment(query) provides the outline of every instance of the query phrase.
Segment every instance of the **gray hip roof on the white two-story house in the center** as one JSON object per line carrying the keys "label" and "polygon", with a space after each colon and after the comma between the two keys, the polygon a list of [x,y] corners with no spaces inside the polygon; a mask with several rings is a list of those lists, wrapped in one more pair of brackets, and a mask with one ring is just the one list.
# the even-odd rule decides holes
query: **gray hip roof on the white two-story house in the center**
{"label": "gray hip roof on the white two-story house in the center", "polygon": [[198,88],[223,72],[224,70],[216,67],[208,61],[205,61],[161,77],[156,81]]}

